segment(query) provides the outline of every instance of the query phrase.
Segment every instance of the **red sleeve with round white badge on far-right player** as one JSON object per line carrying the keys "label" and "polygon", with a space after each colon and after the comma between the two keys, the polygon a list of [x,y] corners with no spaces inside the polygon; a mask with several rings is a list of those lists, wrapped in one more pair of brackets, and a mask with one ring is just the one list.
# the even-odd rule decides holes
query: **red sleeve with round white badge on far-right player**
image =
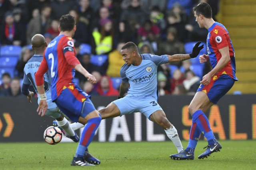
{"label": "red sleeve with round white badge on far-right player", "polygon": [[228,47],[227,32],[223,29],[215,29],[212,32],[212,38],[218,49]]}

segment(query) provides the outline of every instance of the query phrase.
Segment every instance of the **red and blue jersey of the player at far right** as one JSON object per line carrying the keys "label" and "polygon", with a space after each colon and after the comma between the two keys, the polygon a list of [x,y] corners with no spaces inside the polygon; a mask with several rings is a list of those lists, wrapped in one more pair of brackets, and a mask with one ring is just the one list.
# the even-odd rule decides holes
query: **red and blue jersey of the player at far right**
{"label": "red and blue jersey of the player at far right", "polygon": [[235,51],[228,34],[228,30],[222,24],[215,22],[208,29],[207,36],[207,53],[210,57],[212,68],[214,68],[220,61],[222,56],[219,49],[224,47],[228,47],[229,49],[230,61],[220,71],[218,71],[216,75],[227,74],[237,81]]}

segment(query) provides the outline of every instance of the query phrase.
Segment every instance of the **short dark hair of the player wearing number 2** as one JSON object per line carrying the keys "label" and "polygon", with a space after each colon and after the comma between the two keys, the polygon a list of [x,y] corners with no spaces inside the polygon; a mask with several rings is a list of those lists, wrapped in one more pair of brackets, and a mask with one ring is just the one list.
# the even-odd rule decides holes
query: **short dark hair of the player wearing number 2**
{"label": "short dark hair of the player wearing number 2", "polygon": [[60,31],[71,31],[76,25],[75,17],[66,14],[60,17]]}

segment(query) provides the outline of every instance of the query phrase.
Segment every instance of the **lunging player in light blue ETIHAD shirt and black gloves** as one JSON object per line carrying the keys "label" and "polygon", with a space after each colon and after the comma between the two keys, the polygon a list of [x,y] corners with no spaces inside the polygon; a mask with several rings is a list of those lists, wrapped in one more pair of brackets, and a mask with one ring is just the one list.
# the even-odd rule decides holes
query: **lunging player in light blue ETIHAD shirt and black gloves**
{"label": "lunging player in light blue ETIHAD shirt and black gloves", "polygon": [[[198,47],[200,43],[196,43],[190,54],[161,56],[140,55],[138,47],[133,42],[126,43],[121,49],[125,64],[120,70],[122,83],[118,100],[99,111],[102,119],[141,112],[150,121],[160,125],[178,152],[182,151],[183,147],[176,128],[168,121],[163,109],[158,105],[157,67],[164,63],[174,63],[196,57],[204,47],[203,45]],[[128,95],[124,97],[127,90]]]}

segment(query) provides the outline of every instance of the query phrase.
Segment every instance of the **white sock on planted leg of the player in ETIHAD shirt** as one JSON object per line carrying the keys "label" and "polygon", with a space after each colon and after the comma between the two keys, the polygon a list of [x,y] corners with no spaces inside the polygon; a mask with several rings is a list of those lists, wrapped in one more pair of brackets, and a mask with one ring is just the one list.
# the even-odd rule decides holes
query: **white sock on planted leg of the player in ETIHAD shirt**
{"label": "white sock on planted leg of the player in ETIHAD shirt", "polygon": [[168,129],[166,129],[164,131],[166,132],[168,138],[170,138],[170,140],[172,140],[172,142],[176,146],[178,152],[184,150],[183,147],[182,147],[182,144],[180,142],[180,137],[178,135],[178,132],[177,132],[177,130],[176,130],[176,128],[174,126],[168,128]]}

